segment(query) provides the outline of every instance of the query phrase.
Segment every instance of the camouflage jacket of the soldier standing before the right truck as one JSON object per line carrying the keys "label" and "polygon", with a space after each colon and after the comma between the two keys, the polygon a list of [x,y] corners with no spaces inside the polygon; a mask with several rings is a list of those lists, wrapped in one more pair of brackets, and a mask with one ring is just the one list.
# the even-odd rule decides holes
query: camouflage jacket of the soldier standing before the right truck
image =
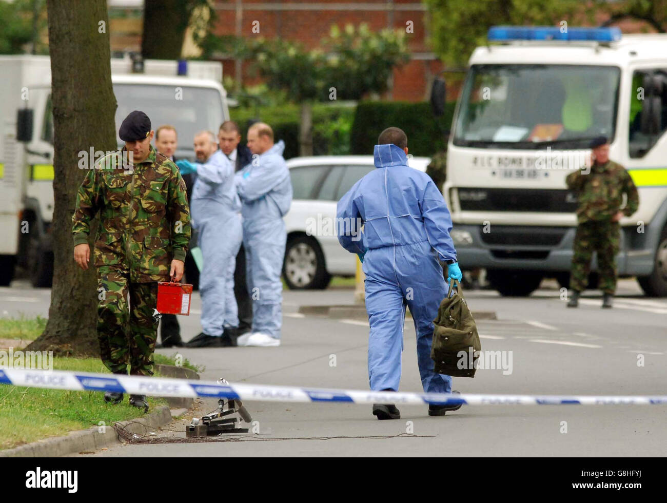
{"label": "camouflage jacket of the soldier standing before the right truck", "polygon": [[622,165],[614,161],[594,164],[588,174],[581,170],[570,173],[566,183],[577,196],[579,223],[610,220],[620,211],[623,194],[628,197],[622,210],[626,217],[637,211],[639,206],[639,194],[632,177]]}

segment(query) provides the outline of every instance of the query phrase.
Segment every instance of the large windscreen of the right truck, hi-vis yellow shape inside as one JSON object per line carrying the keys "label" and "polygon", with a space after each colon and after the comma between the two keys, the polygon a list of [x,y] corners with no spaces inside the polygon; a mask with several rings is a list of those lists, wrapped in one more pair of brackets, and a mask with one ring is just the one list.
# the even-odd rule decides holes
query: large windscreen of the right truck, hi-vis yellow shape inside
{"label": "large windscreen of the right truck, hi-vis yellow shape inside", "polygon": [[620,69],[583,65],[472,65],[454,145],[581,149],[614,137]]}

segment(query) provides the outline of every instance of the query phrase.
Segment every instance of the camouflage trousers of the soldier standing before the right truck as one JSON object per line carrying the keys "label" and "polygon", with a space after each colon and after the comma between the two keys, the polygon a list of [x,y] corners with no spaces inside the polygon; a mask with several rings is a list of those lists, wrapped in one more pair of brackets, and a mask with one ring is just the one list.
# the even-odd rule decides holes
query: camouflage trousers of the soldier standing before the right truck
{"label": "camouflage trousers of the soldier standing before the right truck", "polygon": [[586,221],[577,227],[574,237],[570,288],[583,292],[588,285],[590,261],[598,254],[600,290],[605,294],[616,292],[616,254],[620,244],[620,224],[610,220]]}

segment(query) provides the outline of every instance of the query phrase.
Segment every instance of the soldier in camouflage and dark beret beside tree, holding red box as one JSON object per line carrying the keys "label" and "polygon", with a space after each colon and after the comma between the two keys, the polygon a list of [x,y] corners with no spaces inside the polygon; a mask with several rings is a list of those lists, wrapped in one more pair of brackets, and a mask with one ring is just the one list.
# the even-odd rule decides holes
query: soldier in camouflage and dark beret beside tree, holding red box
{"label": "soldier in camouflage and dark beret beside tree, holding red box", "polygon": [[[114,374],[127,375],[129,364],[131,375],[152,376],[157,282],[183,276],[189,207],[178,168],[151,147],[145,113],[130,113],[119,137],[125,148],[95,163],[79,187],[72,216],[74,256],[88,268],[90,222],[99,211],[94,263],[101,359]],[[117,404],[123,394],[107,392],[104,398]],[[148,408],[145,396],[130,396],[130,404]]]}

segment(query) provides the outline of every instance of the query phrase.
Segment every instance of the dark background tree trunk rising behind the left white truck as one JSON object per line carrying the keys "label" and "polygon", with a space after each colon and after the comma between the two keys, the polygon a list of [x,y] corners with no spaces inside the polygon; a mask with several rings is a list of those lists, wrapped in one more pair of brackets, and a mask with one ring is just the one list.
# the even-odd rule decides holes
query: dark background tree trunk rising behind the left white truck
{"label": "dark background tree trunk rising behind the left white truck", "polygon": [[189,0],[145,0],[141,55],[144,59],[179,59],[191,9]]}

